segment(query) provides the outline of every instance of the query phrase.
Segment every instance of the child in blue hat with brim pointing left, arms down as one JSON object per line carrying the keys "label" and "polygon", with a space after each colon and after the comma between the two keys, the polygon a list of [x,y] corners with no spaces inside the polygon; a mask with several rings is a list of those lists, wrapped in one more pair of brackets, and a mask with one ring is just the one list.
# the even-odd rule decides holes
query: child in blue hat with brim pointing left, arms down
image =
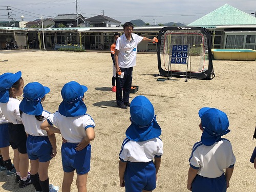
{"label": "child in blue hat with brim pointing left, arms down", "polygon": [[230,132],[227,115],[215,108],[202,108],[199,117],[203,133],[189,158],[187,189],[196,192],[226,191],[236,162],[231,143],[221,138]]}

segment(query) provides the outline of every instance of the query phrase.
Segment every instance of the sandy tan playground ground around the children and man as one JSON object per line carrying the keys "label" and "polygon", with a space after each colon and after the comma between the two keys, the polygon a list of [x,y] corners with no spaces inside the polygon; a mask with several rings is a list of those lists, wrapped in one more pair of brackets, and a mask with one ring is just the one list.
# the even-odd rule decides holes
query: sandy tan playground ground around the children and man
{"label": "sandy tan playground ground around the children and man", "polygon": [[[91,171],[88,191],[124,191],[119,186],[119,151],[129,126],[129,109],[116,108],[115,93],[111,92],[112,60],[110,53],[57,52],[10,50],[0,52],[0,73],[22,71],[25,84],[38,81],[51,88],[43,103],[45,110],[54,113],[62,98],[62,86],[71,80],[88,87],[87,113],[95,120],[95,140],[92,141]],[[8,60],[3,61],[2,60]],[[252,140],[256,124],[256,61],[214,60],[216,77],[212,80],[175,78],[156,81],[156,54],[138,54],[133,71],[133,85],[139,91],[131,94],[150,99],[157,121],[162,128],[164,155],[154,191],[188,191],[186,189],[188,158],[194,143],[200,141],[200,118],[203,106],[223,110],[229,117],[231,132],[224,136],[231,141],[237,162],[228,191],[255,191],[256,170],[249,162],[256,141]],[[56,135],[57,155],[49,167],[50,183],[61,190],[61,136]],[[11,158],[13,157],[10,149]],[[0,173],[0,191],[33,191],[32,185],[18,188],[15,176]],[[77,191],[76,176],[72,191]]]}

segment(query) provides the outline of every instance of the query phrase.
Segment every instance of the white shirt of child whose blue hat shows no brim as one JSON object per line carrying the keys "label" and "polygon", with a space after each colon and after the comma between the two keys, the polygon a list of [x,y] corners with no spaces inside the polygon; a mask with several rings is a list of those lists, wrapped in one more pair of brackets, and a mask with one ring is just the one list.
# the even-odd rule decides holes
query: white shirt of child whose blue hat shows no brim
{"label": "white shirt of child whose blue hat shows no brim", "polygon": [[146,141],[132,141],[128,138],[123,140],[119,154],[121,161],[150,162],[155,156],[163,155],[163,142],[155,137]]}

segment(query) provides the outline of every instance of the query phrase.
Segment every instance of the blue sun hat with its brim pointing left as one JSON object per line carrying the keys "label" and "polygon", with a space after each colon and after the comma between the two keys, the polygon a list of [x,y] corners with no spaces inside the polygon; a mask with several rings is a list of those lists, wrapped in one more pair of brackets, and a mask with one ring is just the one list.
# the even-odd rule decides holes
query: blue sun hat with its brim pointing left
{"label": "blue sun hat with its brim pointing left", "polygon": [[227,115],[215,108],[202,108],[198,112],[201,118],[203,133],[201,141],[206,146],[211,146],[221,140],[221,136],[230,132]]}

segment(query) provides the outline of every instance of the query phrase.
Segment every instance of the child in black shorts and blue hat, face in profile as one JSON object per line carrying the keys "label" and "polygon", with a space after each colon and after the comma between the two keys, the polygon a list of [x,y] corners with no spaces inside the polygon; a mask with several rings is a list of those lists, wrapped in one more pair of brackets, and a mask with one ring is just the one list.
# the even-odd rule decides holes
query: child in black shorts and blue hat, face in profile
{"label": "child in black shorts and blue hat, face in profile", "polygon": [[6,163],[7,176],[16,173],[15,181],[18,183],[20,180],[20,188],[31,184],[28,174],[27,135],[19,113],[20,100],[16,99],[16,97],[23,94],[23,87],[24,80],[22,78],[22,72],[18,71],[17,73],[4,73],[0,75],[0,107],[9,122],[10,145],[14,151],[13,163],[16,168],[15,170],[12,167],[9,160]]}

